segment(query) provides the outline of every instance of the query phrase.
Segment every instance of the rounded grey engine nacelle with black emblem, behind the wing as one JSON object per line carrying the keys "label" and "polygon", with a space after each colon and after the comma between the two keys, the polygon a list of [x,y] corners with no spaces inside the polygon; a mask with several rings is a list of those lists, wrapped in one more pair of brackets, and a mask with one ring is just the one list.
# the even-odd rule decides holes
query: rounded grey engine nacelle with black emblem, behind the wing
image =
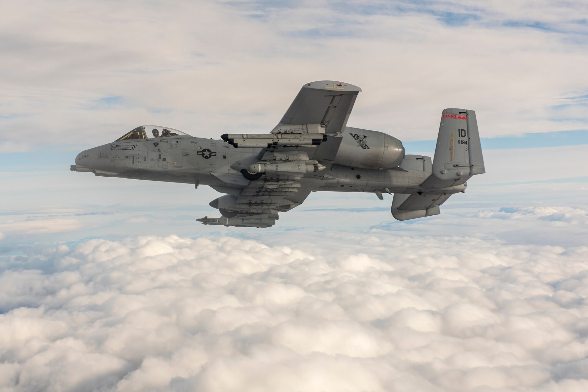
{"label": "rounded grey engine nacelle with black emblem, behind the wing", "polygon": [[345,127],[335,157],[336,165],[362,169],[392,169],[402,163],[405,150],[400,140],[376,130]]}

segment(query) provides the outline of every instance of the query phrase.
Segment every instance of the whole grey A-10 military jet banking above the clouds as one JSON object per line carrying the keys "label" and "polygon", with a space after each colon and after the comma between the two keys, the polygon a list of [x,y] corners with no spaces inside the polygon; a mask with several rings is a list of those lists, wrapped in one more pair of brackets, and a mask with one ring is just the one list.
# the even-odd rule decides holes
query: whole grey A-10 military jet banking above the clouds
{"label": "whole grey A-10 military jet banking above the clouds", "polygon": [[96,176],[208,185],[226,195],[210,205],[221,217],[204,225],[269,227],[310,192],[394,194],[399,220],[439,214],[485,172],[473,110],[445,109],[435,160],[405,155],[400,140],[346,126],[361,89],[335,81],[312,82],[269,133],[195,138],[172,128],[143,125],[103,146],[85,150],[71,170]]}

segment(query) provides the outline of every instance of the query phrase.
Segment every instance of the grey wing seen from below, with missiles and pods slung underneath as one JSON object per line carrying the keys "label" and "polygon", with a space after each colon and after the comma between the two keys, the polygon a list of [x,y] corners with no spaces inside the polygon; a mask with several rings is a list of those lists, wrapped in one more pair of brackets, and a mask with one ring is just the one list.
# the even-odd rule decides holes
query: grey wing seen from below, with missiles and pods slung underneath
{"label": "grey wing seen from below, with missiles and pods slung underneath", "polygon": [[269,227],[279,212],[302,204],[310,194],[305,179],[322,178],[333,164],[340,134],[360,91],[343,82],[306,83],[269,134],[222,135],[235,148],[262,148],[259,155],[235,162],[231,168],[263,176],[235,196],[236,216],[199,220],[208,225]]}

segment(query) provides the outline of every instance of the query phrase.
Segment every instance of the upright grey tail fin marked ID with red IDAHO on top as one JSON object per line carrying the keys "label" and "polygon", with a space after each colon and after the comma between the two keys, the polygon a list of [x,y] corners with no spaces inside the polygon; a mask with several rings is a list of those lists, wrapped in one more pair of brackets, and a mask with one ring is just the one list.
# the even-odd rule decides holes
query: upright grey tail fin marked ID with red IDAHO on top
{"label": "upright grey tail fin marked ID with red IDAHO on top", "polygon": [[443,110],[433,160],[433,175],[439,180],[463,183],[469,177],[482,173],[486,173],[486,170],[476,112],[466,109]]}

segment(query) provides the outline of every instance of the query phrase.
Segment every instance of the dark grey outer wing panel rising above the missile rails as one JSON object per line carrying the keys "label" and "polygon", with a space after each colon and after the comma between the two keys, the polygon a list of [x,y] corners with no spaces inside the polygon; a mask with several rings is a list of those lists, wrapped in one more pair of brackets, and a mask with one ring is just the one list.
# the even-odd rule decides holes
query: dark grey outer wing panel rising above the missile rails
{"label": "dark grey outer wing panel rising above the missile rails", "polygon": [[343,82],[307,83],[272,132],[310,132],[292,125],[304,125],[306,128],[312,125],[312,132],[317,132],[316,129],[324,129],[325,133],[342,132],[360,91],[362,89],[358,86]]}

